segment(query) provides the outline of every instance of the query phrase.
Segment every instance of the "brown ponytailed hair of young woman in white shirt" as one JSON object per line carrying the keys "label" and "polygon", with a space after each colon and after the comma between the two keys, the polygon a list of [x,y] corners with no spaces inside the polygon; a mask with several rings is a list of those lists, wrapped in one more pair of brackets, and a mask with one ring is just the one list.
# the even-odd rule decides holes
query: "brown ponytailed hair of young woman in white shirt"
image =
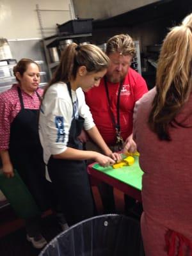
{"label": "brown ponytailed hair of young woman in white shirt", "polygon": [[72,43],[63,51],[60,65],[45,88],[45,92],[54,83],[67,83],[70,79],[76,79],[78,67],[85,66],[88,72],[99,72],[108,68],[108,65],[108,56],[96,45]]}

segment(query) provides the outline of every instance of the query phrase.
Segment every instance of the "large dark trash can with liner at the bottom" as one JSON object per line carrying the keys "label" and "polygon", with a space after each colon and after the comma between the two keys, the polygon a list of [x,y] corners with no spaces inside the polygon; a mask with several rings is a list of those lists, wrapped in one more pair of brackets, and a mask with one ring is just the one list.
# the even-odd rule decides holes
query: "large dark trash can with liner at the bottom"
{"label": "large dark trash can with liner at the bottom", "polygon": [[140,223],[106,214],[84,220],[56,236],[39,256],[145,256]]}

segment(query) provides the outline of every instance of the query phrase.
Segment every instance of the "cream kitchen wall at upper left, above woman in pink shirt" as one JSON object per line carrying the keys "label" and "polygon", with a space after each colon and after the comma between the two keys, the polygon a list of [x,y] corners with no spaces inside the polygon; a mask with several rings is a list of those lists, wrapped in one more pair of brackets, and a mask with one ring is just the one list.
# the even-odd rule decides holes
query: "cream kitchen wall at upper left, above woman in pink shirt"
{"label": "cream kitchen wall at upper left, above woman in pink shirt", "polygon": [[[44,36],[52,36],[56,34],[56,23],[74,19],[72,0],[0,0],[0,13],[0,37],[8,39],[13,59],[17,61],[31,58],[46,63],[40,22]],[[42,71],[47,72],[48,81],[46,64],[42,65]]]}

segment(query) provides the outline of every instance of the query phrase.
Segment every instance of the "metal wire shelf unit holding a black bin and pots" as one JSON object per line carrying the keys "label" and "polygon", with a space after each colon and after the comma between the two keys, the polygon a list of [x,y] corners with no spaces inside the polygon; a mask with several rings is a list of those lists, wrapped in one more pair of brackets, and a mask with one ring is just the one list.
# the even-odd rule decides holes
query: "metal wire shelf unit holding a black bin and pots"
{"label": "metal wire shelf unit holding a black bin and pots", "polygon": [[[49,71],[49,77],[52,77],[52,73],[60,63],[61,52],[65,46],[67,40],[76,42],[77,44],[86,42],[88,36],[92,36],[92,19],[75,19],[70,6],[69,13],[70,19],[64,24],[58,25],[56,35],[45,37],[46,28],[42,23],[42,12],[66,12],[67,10],[41,10],[39,5],[36,4],[36,12],[38,15],[38,22],[40,25],[40,31],[42,34],[42,43],[45,52],[45,59],[47,61],[47,67]],[[82,33],[81,33],[82,32]],[[70,42],[70,43],[71,43]]]}

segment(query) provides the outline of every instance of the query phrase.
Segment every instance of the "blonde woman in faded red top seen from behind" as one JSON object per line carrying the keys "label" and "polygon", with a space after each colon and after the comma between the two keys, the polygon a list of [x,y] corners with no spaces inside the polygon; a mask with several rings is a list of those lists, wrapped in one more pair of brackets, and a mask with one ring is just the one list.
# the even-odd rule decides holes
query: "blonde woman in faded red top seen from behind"
{"label": "blonde woman in faded red top seen from behind", "polygon": [[192,253],[191,61],[192,14],[164,39],[156,87],[134,109],[146,256]]}

